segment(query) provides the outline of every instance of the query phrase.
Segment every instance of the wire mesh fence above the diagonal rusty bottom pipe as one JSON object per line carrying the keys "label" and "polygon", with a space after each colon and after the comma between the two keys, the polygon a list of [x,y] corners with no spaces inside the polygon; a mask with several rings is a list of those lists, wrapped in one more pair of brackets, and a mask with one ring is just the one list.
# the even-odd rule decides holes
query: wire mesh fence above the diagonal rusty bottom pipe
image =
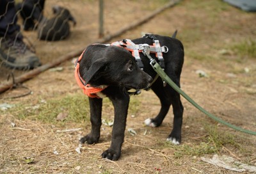
{"label": "wire mesh fence above the diagonal rusty bottom pipe", "polygon": [[[166,2],[170,1],[0,1],[0,84],[83,49]],[[104,23],[104,28],[99,23]],[[145,32],[150,33],[150,28]],[[131,38],[138,36],[141,33]]]}

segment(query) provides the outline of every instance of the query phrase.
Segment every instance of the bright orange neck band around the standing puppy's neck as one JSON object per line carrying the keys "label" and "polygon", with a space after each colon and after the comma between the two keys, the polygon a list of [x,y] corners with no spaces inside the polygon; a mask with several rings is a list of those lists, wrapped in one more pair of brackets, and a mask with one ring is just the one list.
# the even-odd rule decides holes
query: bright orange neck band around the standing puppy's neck
{"label": "bright orange neck band around the standing puppy's neck", "polygon": [[80,88],[82,88],[85,95],[87,95],[88,97],[92,97],[92,98],[95,98],[95,97],[100,98],[97,95],[97,93],[99,93],[100,91],[107,88],[107,86],[100,86],[99,88],[92,87],[92,86],[90,86],[90,84],[85,83],[84,79],[81,77],[81,75],[79,73],[79,62],[83,58],[84,51],[82,52],[81,56],[79,56],[79,58],[76,61],[76,65],[75,65],[75,67],[76,67],[76,70],[75,70],[76,82],[77,82],[78,86]]}

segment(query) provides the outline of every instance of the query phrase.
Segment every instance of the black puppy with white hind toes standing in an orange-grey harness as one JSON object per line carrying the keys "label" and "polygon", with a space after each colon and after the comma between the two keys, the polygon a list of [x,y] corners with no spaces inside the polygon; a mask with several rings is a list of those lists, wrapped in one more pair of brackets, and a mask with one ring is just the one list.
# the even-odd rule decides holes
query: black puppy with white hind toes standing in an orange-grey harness
{"label": "black puppy with white hind toes standing in an orange-grey harness", "polygon": [[[164,71],[180,86],[180,73],[184,61],[183,45],[175,38],[155,36],[161,45],[168,47],[168,52],[163,53]],[[132,40],[132,42],[136,44],[153,44],[151,38],[138,38]],[[156,59],[155,54],[150,55]],[[152,77],[153,79],[156,77],[156,72],[150,66],[149,59],[142,53],[140,53],[140,57],[144,65],[144,72],[136,65],[136,61],[131,53],[124,48],[96,44],[90,45],[78,61],[79,67],[77,73],[79,74],[79,80],[83,81],[84,79],[84,85],[89,83],[90,86],[103,88],[104,90],[97,93],[98,97],[109,97],[115,108],[111,146],[103,152],[102,157],[104,158],[118,160],[121,155],[127,109],[129,106],[127,90],[130,88],[147,88],[148,84],[152,82]],[[183,115],[180,95],[169,85],[164,87],[160,77],[152,84],[151,88],[161,101],[161,110],[156,118],[149,118],[145,120],[145,123],[152,127],[161,125],[172,104],[174,114],[173,129],[167,140],[172,141],[174,144],[179,144]],[[102,99],[90,97],[89,102],[92,130],[90,134],[81,138],[80,141],[81,143],[93,144],[97,143],[100,138]]]}

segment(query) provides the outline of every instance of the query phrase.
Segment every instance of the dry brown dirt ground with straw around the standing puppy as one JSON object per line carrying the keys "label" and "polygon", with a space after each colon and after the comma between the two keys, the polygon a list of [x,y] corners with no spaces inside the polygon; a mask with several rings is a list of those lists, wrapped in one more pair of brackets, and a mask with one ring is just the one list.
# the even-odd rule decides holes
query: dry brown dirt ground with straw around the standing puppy
{"label": "dry brown dirt ground with straw around the standing puppy", "polygon": [[[36,39],[36,32],[24,32],[35,45],[36,54],[43,63],[56,59],[70,51],[85,48],[98,38],[98,2],[90,0],[46,1],[45,15],[51,15],[52,4],[68,6],[77,19],[77,26],[67,40],[60,42],[42,42]],[[158,1],[157,1],[158,2]],[[156,1],[105,1],[105,33],[115,33],[118,29],[140,19],[152,10],[163,6]],[[207,4],[207,6],[205,6]],[[256,131],[256,65],[254,58],[238,58],[228,45],[248,38],[255,39],[255,13],[241,12],[221,1],[182,1],[154,17],[146,24],[132,29],[115,40],[138,38],[141,33],[172,35],[179,30],[179,38],[185,47],[185,63],[182,71],[182,89],[205,109],[230,123]],[[223,49],[228,50],[221,54]],[[239,60],[238,60],[239,59]],[[71,61],[60,65],[61,72],[46,72],[24,83],[32,91],[19,99],[0,99],[0,103],[38,104],[38,99],[60,99],[68,94],[81,93],[74,79]],[[1,68],[1,81],[6,79],[8,71]],[[244,72],[248,68],[248,73]],[[209,77],[199,78],[196,70],[204,70]],[[12,70],[15,74],[18,72]],[[12,95],[11,91],[1,97]],[[135,117],[128,116],[127,128],[137,132],[131,136],[125,132],[125,143],[119,161],[107,161],[100,154],[110,145],[111,128],[104,130],[97,145],[83,145],[81,154],[75,151],[78,139],[90,130],[90,123],[77,124],[67,122],[61,129],[83,127],[81,131],[56,133],[60,127],[51,123],[18,119],[17,113],[0,111],[0,171],[1,173],[236,173],[218,166],[202,162],[200,155],[175,157],[175,148],[165,147],[163,142],[171,131],[172,111],[166,116],[163,125],[158,128],[143,126],[143,120],[152,118],[159,111],[159,102],[150,91],[138,96],[142,103]],[[197,146],[209,136],[205,125],[215,123],[197,111],[186,100],[184,104],[184,123],[182,127],[182,145]],[[110,109],[111,110],[111,109]],[[105,115],[113,115],[104,111]],[[24,130],[13,130],[10,123]],[[82,122],[82,121],[81,121]],[[216,124],[220,132],[229,132],[236,138],[233,145],[223,145],[219,155],[234,157],[237,161],[256,165],[255,137],[242,134],[223,125]],[[30,131],[26,131],[30,129]],[[147,129],[147,134],[144,132]],[[54,154],[56,150],[58,155]],[[212,154],[204,155],[212,157]],[[33,163],[24,162],[24,158],[35,159]],[[245,171],[243,173],[248,173]]]}

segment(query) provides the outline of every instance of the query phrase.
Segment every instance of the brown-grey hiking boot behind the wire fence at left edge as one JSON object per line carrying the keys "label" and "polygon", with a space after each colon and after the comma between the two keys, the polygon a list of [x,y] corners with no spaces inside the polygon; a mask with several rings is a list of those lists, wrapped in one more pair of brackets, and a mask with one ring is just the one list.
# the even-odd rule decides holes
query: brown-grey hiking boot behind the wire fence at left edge
{"label": "brown-grey hiking boot behind the wire fence at left edge", "polygon": [[0,62],[6,67],[17,69],[33,69],[41,65],[35,52],[22,41],[22,35],[13,35],[0,38]]}

